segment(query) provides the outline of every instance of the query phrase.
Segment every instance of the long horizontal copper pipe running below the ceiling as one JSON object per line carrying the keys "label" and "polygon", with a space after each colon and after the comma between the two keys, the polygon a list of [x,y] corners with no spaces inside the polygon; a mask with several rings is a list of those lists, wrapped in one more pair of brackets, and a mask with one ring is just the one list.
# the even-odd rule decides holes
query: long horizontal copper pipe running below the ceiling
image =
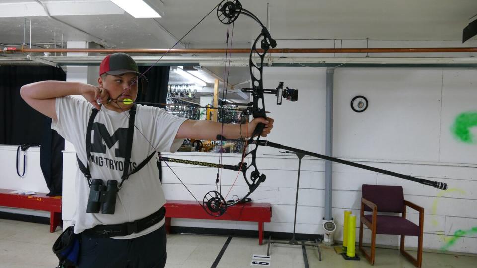
{"label": "long horizontal copper pipe running below the ceiling", "polygon": [[[86,53],[149,53],[164,54],[168,49],[26,49],[8,48],[6,53],[44,53],[44,52],[86,52]],[[168,54],[175,53],[222,53],[226,49],[171,49]],[[229,53],[250,53],[250,49],[228,49]],[[258,50],[258,52],[262,52]],[[477,48],[283,48],[269,49],[269,53],[429,53],[429,52],[477,52]]]}

